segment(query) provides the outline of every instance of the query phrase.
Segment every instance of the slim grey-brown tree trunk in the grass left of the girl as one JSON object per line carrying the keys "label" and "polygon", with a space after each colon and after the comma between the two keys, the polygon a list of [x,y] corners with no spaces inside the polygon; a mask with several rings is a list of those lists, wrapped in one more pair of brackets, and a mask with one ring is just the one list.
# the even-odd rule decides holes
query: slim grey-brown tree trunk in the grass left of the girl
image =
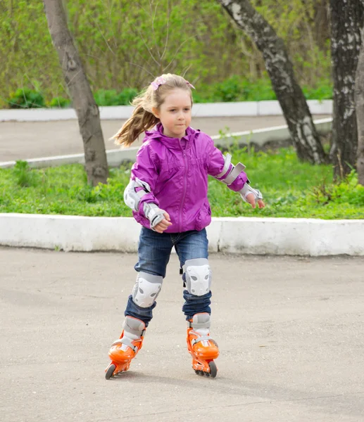
{"label": "slim grey-brown tree trunk in the grass left of the girl", "polygon": [[68,30],[64,0],[44,0],[49,32],[58,53],[65,83],[76,110],[84,144],[84,161],[89,184],[106,184],[108,162],[100,124],[99,108],[92,95],[80,56]]}

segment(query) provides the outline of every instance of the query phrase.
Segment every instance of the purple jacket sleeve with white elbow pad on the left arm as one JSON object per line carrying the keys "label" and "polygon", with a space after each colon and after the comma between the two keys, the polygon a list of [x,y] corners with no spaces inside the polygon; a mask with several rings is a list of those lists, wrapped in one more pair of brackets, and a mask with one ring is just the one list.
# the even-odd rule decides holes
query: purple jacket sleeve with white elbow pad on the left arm
{"label": "purple jacket sleeve with white elbow pad on the left arm", "polygon": [[[130,174],[130,184],[125,189],[124,200],[127,201],[128,191],[134,190],[138,193],[139,206],[133,210],[134,217],[146,217],[144,215],[144,203],[155,203],[159,206],[158,199],[154,196],[153,191],[156,187],[156,179],[158,177],[158,160],[149,146],[149,142],[143,143],[137,152],[137,160],[132,165]],[[134,182],[134,183],[133,183]],[[137,183],[135,183],[137,182]],[[138,218],[137,218],[138,219]]]}

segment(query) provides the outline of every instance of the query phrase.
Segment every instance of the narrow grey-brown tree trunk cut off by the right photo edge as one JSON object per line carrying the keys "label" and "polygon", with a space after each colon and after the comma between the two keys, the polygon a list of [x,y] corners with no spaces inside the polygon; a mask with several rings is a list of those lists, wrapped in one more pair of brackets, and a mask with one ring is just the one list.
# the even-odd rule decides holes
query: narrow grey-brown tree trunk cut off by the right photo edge
{"label": "narrow grey-brown tree trunk cut off by the right photo edge", "polygon": [[[364,6],[364,0],[361,0]],[[357,170],[358,170],[358,181],[364,186],[364,43],[363,43],[364,28],[361,32],[362,43],[360,47],[360,53],[358,58],[358,66],[356,68],[356,79],[355,79],[355,111],[356,111],[356,124],[358,128],[358,149],[356,153],[357,157]]]}

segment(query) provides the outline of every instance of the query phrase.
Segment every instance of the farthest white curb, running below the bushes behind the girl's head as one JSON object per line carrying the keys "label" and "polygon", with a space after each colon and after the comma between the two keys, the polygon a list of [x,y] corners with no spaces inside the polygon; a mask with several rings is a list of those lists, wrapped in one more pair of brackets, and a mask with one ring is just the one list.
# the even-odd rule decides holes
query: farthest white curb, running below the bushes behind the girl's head
{"label": "farthest white curb, running below the bushes behind the girl's head", "polygon": [[[308,100],[313,115],[331,115],[332,100]],[[125,120],[132,115],[132,106],[99,107],[101,120]],[[282,115],[278,101],[241,101],[237,103],[195,103],[193,117],[237,117]],[[49,122],[52,120],[75,120],[73,108],[27,108],[23,110],[0,110],[0,122]]]}

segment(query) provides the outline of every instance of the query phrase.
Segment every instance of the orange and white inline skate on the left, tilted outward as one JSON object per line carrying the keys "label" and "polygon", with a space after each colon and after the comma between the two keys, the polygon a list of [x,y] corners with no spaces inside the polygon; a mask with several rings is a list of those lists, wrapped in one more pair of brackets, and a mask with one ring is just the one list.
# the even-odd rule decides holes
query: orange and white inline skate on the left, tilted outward
{"label": "orange and white inline skate on the left, tilted outward", "polygon": [[144,333],[145,324],[143,321],[132,316],[125,317],[123,333],[121,333],[119,340],[114,341],[108,352],[111,363],[105,370],[107,380],[129,369],[130,362],[142,349]]}

